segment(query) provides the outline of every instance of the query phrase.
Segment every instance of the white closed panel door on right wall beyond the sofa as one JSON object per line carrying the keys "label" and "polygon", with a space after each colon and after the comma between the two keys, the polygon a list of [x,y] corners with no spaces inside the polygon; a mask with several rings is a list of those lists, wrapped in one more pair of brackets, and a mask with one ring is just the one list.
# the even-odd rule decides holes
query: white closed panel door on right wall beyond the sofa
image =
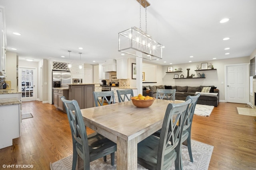
{"label": "white closed panel door on right wall beyond the sofa", "polygon": [[226,66],[226,102],[249,102],[249,64]]}

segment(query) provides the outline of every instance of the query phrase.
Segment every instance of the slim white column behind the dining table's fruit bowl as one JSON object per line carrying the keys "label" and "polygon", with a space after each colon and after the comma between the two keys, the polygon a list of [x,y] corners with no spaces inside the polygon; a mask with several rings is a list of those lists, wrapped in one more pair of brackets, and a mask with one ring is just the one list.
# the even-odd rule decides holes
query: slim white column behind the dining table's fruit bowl
{"label": "slim white column behind the dining table's fruit bowl", "polygon": [[[136,52],[136,55],[142,55],[140,52]],[[142,58],[136,57],[136,88],[138,94],[142,94]]]}

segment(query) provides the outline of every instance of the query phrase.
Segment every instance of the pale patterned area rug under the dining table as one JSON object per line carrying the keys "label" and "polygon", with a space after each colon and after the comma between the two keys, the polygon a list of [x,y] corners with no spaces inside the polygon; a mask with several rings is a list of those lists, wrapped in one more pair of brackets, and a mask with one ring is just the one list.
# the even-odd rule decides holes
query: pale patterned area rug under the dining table
{"label": "pale patterned area rug under the dining table", "polygon": [[[184,170],[207,170],[210,158],[212,156],[213,146],[201,143],[198,141],[191,141],[192,154],[194,162],[190,162],[188,155],[188,148],[182,145],[182,160]],[[50,163],[51,170],[71,170],[72,169],[72,155],[58,160],[54,163]],[[169,170],[174,170],[174,165]],[[104,162],[103,158],[94,160],[90,163],[90,170],[116,170],[116,154],[115,164],[111,166],[110,155],[107,156],[107,161]],[[140,164],[138,164],[138,170],[147,170]]]}

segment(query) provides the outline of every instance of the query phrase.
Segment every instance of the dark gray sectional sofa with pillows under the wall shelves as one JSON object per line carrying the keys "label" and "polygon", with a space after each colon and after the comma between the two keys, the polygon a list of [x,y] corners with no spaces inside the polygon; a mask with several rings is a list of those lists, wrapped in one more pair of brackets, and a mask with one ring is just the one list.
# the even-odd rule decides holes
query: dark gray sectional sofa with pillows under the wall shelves
{"label": "dark gray sectional sofa with pillows under the wall shelves", "polygon": [[[209,93],[203,93],[202,89],[204,87],[211,87]],[[143,96],[152,96],[156,97],[156,89],[176,89],[175,100],[185,100],[187,96],[195,96],[197,93],[200,93],[197,104],[204,104],[210,106],[218,106],[219,104],[219,90],[214,86],[143,86]],[[146,90],[146,89],[150,89]],[[211,94],[217,93],[217,94]]]}

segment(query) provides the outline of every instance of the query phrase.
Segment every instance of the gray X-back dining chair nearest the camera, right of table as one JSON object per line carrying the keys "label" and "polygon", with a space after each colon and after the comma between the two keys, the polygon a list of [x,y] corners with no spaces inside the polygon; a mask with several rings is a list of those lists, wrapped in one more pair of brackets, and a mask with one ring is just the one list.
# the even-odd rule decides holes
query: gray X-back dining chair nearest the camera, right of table
{"label": "gray X-back dining chair nearest the camera, right of table", "polygon": [[[184,115],[191,101],[189,99],[179,104],[168,104],[160,137],[150,135],[138,143],[138,163],[140,165],[149,170],[163,170],[170,168],[174,163],[175,169],[180,170],[180,147]],[[178,128],[174,131],[178,122]]]}

